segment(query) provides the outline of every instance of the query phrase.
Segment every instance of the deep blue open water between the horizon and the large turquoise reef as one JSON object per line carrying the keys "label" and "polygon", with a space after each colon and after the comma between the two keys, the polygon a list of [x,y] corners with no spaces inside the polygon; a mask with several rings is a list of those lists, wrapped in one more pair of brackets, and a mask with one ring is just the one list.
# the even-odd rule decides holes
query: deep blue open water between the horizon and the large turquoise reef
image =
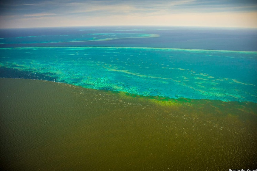
{"label": "deep blue open water between the horizon and the large turquoise reef", "polygon": [[[222,28],[193,28],[193,27],[63,27],[63,28],[30,28],[30,29],[0,29],[0,38],[34,37],[36,42],[48,36],[55,42],[76,40],[81,34],[159,34],[160,37],[148,39],[116,39],[112,41],[67,42],[44,44],[21,44],[19,39],[10,44],[0,44],[0,47],[33,47],[33,46],[115,46],[115,47],[159,47],[211,49],[233,51],[257,51],[257,29],[222,29]],[[62,35],[62,36],[60,36]],[[85,36],[85,35],[84,35]],[[89,36],[90,37],[90,36]],[[1,40],[3,43],[7,40]]]}

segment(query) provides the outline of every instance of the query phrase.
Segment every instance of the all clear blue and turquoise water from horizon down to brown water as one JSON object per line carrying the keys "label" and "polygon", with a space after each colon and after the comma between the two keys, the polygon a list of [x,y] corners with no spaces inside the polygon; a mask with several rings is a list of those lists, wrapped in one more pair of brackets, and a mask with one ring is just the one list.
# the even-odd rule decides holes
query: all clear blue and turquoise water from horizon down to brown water
{"label": "all clear blue and turquoise water from horizon down to brown water", "polygon": [[1,77],[144,96],[257,102],[254,29],[2,29],[0,38]]}

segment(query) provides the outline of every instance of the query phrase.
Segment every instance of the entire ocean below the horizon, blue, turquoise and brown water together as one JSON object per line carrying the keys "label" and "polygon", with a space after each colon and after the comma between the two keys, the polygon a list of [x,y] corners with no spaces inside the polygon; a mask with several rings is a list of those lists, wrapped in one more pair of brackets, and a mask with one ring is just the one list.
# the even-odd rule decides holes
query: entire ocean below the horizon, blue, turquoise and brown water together
{"label": "entire ocean below the horizon, blue, turquoise and brown water together", "polygon": [[1,166],[255,169],[256,45],[256,29],[1,29]]}

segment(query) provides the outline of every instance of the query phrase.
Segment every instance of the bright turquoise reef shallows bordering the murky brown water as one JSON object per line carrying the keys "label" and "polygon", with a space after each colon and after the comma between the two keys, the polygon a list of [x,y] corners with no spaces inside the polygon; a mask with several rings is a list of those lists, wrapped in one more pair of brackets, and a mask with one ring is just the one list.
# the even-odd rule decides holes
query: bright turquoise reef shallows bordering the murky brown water
{"label": "bright turquoise reef shallows bordering the murky brown water", "polygon": [[133,47],[1,48],[1,67],[85,88],[257,102],[257,52]]}

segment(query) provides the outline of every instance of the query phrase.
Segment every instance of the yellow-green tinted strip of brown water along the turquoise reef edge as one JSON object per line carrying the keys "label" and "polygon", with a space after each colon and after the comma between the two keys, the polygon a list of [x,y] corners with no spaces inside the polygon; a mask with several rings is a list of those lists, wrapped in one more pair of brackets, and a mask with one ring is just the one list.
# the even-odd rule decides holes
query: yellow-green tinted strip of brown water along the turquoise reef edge
{"label": "yellow-green tinted strip of brown water along the turquoise reef edge", "polygon": [[[114,93],[114,92],[111,92]],[[245,113],[251,115],[257,114],[257,103],[253,102],[224,102],[220,100],[208,100],[208,99],[189,99],[189,98],[167,98],[161,96],[142,96],[136,94],[130,94],[126,92],[116,92],[120,98],[127,100],[145,101],[159,106],[162,109],[170,110],[174,109],[188,110],[188,112],[197,113],[199,115],[206,114],[202,111],[208,111],[208,113],[215,113],[217,115],[237,116],[240,118],[247,118]],[[233,106],[233,107],[231,107]]]}

